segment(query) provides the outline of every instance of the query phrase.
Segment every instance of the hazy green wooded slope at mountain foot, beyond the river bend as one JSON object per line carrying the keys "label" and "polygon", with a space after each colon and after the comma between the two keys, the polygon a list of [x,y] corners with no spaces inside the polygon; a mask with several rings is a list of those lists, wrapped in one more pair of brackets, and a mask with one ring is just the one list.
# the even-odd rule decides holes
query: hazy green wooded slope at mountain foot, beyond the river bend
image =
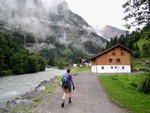
{"label": "hazy green wooded slope at mountain foot, beyond the river bend", "polygon": [[88,57],[85,51],[69,45],[60,49],[43,49],[40,51],[42,56],[47,59],[47,63],[50,66],[57,66],[60,69],[64,69],[71,63],[79,63],[81,59]]}

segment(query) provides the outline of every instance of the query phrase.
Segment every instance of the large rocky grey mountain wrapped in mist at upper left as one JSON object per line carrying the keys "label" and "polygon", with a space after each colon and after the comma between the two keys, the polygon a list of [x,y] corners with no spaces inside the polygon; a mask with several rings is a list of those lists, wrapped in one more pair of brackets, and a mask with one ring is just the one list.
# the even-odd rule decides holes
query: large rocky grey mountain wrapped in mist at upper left
{"label": "large rocky grey mountain wrapped in mist at upper left", "polygon": [[88,54],[97,54],[106,45],[106,40],[93,27],[69,10],[65,0],[0,2],[3,4],[0,5],[0,26],[10,31],[15,40],[26,41],[22,43],[26,43],[30,51],[34,51],[33,48],[58,50],[71,46]]}

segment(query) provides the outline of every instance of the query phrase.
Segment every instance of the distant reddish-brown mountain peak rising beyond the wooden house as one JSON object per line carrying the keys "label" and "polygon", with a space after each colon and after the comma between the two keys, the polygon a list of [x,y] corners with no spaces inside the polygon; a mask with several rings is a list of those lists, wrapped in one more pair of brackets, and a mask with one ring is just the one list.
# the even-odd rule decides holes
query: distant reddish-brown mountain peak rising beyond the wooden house
{"label": "distant reddish-brown mountain peak rising beyond the wooden house", "polygon": [[103,28],[96,27],[97,33],[107,40],[121,35],[126,35],[127,31],[118,29],[116,27],[105,25]]}

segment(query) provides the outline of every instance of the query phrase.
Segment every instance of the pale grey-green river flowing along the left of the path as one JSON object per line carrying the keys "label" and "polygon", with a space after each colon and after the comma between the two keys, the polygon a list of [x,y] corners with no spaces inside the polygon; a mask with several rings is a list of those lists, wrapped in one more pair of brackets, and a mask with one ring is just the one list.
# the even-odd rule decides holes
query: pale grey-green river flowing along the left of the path
{"label": "pale grey-green river flowing along the left of the path", "polygon": [[43,80],[50,80],[55,76],[61,76],[65,70],[46,68],[43,72],[13,75],[0,78],[0,107],[27,91],[34,89]]}

